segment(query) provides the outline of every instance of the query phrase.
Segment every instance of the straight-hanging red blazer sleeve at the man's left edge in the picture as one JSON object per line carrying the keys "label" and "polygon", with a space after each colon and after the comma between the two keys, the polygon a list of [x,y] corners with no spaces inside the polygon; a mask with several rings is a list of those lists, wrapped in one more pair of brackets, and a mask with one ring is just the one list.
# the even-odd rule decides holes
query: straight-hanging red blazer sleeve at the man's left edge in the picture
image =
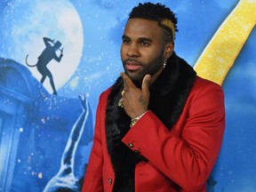
{"label": "straight-hanging red blazer sleeve at the man's left edge in the picture", "polygon": [[94,128],[94,136],[93,136],[93,145],[91,150],[91,155],[89,158],[89,163],[86,168],[85,177],[84,177],[84,185],[82,188],[82,192],[92,191],[103,191],[103,183],[102,183],[102,164],[103,164],[103,156],[101,149],[101,133],[100,127],[101,124],[104,124],[104,120],[101,119],[102,110],[105,113],[105,108],[103,108],[102,103],[102,94],[100,95],[100,102],[98,104],[97,112],[96,112],[96,121]]}

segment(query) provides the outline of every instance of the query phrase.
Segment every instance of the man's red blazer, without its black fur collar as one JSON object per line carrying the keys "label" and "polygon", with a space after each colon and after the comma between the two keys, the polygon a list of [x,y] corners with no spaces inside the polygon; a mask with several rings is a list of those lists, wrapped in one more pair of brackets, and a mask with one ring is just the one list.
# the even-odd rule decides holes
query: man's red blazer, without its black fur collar
{"label": "man's red blazer, without its black fur collar", "polygon": [[[111,192],[115,183],[105,133],[109,92],[110,89],[100,95],[83,192]],[[222,89],[200,77],[196,77],[171,131],[148,111],[122,140],[148,159],[148,163],[135,166],[135,192],[206,191],[205,183],[219,155],[224,127]]]}

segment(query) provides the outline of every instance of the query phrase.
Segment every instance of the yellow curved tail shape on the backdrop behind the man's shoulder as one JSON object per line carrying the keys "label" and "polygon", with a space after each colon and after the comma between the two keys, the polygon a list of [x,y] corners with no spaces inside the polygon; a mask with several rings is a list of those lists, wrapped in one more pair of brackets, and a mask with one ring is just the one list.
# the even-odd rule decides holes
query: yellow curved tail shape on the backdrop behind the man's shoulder
{"label": "yellow curved tail shape on the backdrop behind the man's shoulder", "polygon": [[194,66],[197,75],[222,84],[256,24],[256,0],[240,0]]}

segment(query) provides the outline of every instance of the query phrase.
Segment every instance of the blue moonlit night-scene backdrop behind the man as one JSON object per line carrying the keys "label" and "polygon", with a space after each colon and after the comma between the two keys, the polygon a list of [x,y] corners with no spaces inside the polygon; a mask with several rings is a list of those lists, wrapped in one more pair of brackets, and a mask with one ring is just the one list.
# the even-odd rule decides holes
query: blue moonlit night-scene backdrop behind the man
{"label": "blue moonlit night-scene backdrop behind the man", "polygon": [[[100,92],[123,71],[121,36],[139,2],[0,2],[0,191],[79,191]],[[159,2],[178,17],[175,52],[225,92],[208,191],[255,191],[256,0]]]}

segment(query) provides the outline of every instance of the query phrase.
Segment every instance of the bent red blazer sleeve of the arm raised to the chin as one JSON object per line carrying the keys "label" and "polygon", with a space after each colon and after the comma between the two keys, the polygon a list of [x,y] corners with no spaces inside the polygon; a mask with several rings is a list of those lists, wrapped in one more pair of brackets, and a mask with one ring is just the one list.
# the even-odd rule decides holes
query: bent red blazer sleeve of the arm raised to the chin
{"label": "bent red blazer sleeve of the arm raised to the chin", "polygon": [[183,119],[174,125],[180,135],[168,131],[148,111],[123,139],[125,145],[139,150],[160,172],[188,191],[205,185],[219,155],[225,128],[221,87],[211,83],[197,88],[188,97]]}

